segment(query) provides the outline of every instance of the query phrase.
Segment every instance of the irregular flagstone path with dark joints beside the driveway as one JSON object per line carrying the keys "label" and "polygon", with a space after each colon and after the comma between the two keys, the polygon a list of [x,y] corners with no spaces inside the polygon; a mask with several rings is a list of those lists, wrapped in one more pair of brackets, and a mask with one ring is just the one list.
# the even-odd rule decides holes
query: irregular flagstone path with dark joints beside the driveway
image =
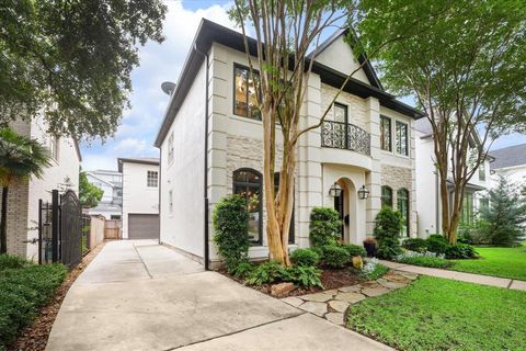
{"label": "irregular flagstone path with dark joints beside the driveway", "polygon": [[316,294],[286,297],[282,298],[282,301],[335,325],[343,326],[344,314],[350,305],[403,287],[418,276],[414,273],[390,271],[376,281],[363,282]]}

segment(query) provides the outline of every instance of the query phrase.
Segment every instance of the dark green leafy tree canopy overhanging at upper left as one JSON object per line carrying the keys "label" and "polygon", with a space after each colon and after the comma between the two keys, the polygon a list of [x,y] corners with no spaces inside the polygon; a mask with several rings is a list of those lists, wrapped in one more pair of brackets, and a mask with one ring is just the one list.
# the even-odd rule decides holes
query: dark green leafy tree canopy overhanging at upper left
{"label": "dark green leafy tree canopy overhanging at upper left", "polygon": [[165,11],[161,0],[3,1],[0,124],[43,111],[57,136],[111,136],[129,105],[137,46],[162,42]]}

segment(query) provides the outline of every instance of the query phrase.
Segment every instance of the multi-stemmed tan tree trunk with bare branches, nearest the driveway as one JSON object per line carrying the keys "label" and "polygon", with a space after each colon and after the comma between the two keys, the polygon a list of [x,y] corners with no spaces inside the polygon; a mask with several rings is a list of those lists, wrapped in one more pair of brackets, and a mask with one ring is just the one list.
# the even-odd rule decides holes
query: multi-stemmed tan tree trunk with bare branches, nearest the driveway
{"label": "multi-stemmed tan tree trunk with bare branches, nearest the driveway", "polygon": [[[320,36],[327,34],[327,30],[347,26],[350,19],[356,15],[356,9],[357,2],[352,0],[236,0],[230,10],[231,19],[243,33],[249,73],[256,90],[261,92],[255,95],[263,122],[266,235],[271,258],[284,265],[290,264],[287,242],[294,206],[298,139],[323,123],[332,103],[351,77],[366,63],[363,60],[362,65],[348,72],[342,87],[332,98],[330,106],[322,111],[318,123],[299,127],[301,105],[313,64],[310,58],[316,57]],[[249,49],[248,29],[255,34],[255,53]],[[357,48],[354,50],[354,55],[357,56],[362,50],[355,45],[356,37],[352,31],[350,32],[346,42]],[[408,22],[404,33],[386,37],[379,46],[403,39],[411,32],[412,26]],[[369,57],[378,49],[369,50]],[[255,65],[260,70],[259,76],[254,75]],[[279,128],[276,128],[277,124]],[[277,192],[274,191],[276,133],[281,133],[283,139]]]}

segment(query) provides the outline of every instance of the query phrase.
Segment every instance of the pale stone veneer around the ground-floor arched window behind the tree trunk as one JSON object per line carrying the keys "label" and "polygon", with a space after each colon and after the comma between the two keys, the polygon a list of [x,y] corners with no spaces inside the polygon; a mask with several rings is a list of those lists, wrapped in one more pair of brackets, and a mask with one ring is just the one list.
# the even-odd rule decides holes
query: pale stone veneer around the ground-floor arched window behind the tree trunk
{"label": "pale stone veneer around the ground-floor arched window behind the tree trunk", "polygon": [[[282,165],[283,146],[276,144],[276,172]],[[237,169],[252,168],[263,173],[263,140],[239,135],[227,135],[227,193],[232,193],[232,176]],[[263,193],[263,189],[261,190]],[[298,200],[298,177],[296,177],[295,199]],[[263,199],[262,199],[263,200]],[[295,202],[295,213],[297,214],[298,201]],[[263,210],[263,244],[266,242],[265,225],[266,211],[264,203]],[[298,234],[298,215],[295,215],[295,234]]]}

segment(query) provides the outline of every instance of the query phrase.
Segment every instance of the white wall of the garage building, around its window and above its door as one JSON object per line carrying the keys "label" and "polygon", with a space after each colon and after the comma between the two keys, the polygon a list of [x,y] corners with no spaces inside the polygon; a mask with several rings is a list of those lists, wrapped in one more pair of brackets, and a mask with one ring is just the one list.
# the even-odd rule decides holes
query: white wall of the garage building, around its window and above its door
{"label": "white wall of the garage building, around its window and above its door", "polygon": [[[159,214],[159,160],[118,159],[123,173],[122,238],[128,239],[129,215]],[[157,174],[157,186],[148,183],[148,172]]]}

